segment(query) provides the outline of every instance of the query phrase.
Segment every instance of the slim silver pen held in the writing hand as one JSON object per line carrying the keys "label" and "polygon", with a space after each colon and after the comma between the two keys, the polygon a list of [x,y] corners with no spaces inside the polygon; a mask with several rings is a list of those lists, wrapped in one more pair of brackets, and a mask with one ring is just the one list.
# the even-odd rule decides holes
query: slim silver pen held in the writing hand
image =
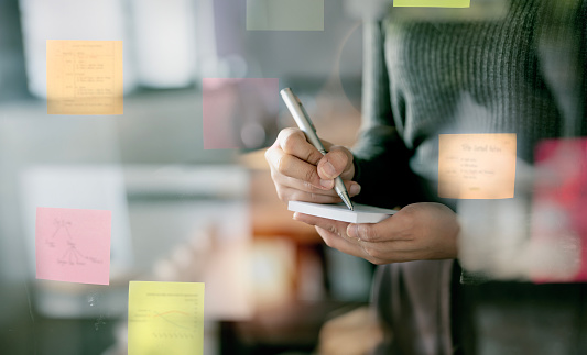
{"label": "slim silver pen held in the writing hand", "polygon": [[[292,89],[285,88],[280,91],[281,98],[285,102],[285,106],[292,113],[295,123],[297,123],[297,126],[300,130],[302,130],[308,142],[316,147],[323,155],[325,155],[327,152],[322,145],[320,140],[318,138],[318,135],[316,134],[316,129],[314,127],[314,124],[312,123],[312,120],[309,119],[309,115],[307,114],[306,110],[304,109],[304,106],[302,106],[302,101],[293,93]],[[335,179],[335,191],[338,193],[343,202],[348,207],[349,210],[354,211],[355,208],[352,207],[352,202],[350,201],[350,198],[348,196],[347,188],[345,187],[345,184],[343,182],[343,179],[340,176],[336,177]]]}

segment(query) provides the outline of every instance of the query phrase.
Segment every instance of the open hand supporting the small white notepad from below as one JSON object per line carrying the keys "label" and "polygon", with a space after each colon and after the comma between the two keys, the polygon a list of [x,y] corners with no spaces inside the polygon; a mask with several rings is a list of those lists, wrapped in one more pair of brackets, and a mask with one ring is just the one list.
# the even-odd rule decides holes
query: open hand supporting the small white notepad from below
{"label": "open hand supporting the small white notepad from below", "polygon": [[294,219],[316,226],[326,245],[382,265],[457,257],[457,215],[441,203],[404,207],[379,223],[347,223],[295,213]]}

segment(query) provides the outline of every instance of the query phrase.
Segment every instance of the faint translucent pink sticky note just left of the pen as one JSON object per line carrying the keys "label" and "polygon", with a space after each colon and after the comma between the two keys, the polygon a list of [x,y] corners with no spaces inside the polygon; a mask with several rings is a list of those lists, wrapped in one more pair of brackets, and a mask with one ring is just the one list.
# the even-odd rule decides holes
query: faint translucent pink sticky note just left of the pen
{"label": "faint translucent pink sticky note just left of the pen", "polygon": [[203,78],[204,149],[260,148],[279,112],[278,78]]}

